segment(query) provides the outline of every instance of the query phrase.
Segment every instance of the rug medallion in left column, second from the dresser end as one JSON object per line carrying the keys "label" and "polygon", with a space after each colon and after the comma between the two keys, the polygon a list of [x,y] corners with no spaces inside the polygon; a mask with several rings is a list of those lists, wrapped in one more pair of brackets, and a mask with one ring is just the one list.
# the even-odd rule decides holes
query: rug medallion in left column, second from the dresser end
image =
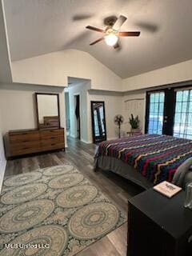
{"label": "rug medallion in left column, second from the dresser end", "polygon": [[40,194],[43,194],[47,189],[44,183],[34,183],[24,186],[19,186],[16,189],[10,190],[6,194],[2,195],[1,202],[7,205],[18,204],[31,199],[37,198]]}

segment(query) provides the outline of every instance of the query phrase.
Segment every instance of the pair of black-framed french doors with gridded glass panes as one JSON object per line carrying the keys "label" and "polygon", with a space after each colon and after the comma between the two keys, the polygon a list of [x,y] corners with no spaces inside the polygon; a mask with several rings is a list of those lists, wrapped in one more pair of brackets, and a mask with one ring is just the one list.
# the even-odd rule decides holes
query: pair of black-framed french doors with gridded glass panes
{"label": "pair of black-framed french doors with gridded glass panes", "polygon": [[146,133],[192,139],[192,90],[168,88],[148,92]]}

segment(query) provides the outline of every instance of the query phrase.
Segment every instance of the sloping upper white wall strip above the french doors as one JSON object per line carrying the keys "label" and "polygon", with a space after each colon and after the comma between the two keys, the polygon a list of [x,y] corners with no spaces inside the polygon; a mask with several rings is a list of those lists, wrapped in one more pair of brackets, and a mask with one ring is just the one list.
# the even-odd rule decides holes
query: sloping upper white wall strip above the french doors
{"label": "sloping upper white wall strip above the french doors", "polygon": [[139,90],[192,80],[192,60],[122,80],[122,91]]}

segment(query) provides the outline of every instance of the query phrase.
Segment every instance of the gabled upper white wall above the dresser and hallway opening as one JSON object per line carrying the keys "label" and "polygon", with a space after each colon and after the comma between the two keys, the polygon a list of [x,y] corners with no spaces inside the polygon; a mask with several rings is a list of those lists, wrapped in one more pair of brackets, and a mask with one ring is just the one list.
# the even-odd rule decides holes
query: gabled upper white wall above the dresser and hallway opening
{"label": "gabled upper white wall above the dresser and hallway opening", "polygon": [[62,50],[12,62],[14,82],[67,86],[67,77],[91,80],[91,88],[122,90],[122,79],[80,50]]}

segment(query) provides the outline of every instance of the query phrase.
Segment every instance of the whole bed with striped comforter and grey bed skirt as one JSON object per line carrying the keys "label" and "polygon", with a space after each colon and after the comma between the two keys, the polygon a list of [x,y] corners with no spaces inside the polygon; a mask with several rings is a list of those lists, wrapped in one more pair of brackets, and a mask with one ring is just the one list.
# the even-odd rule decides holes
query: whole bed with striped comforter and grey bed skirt
{"label": "whole bed with striped comforter and grey bed skirt", "polygon": [[192,181],[192,140],[143,134],[101,142],[94,170],[111,170],[149,188],[162,181],[185,186]]}

